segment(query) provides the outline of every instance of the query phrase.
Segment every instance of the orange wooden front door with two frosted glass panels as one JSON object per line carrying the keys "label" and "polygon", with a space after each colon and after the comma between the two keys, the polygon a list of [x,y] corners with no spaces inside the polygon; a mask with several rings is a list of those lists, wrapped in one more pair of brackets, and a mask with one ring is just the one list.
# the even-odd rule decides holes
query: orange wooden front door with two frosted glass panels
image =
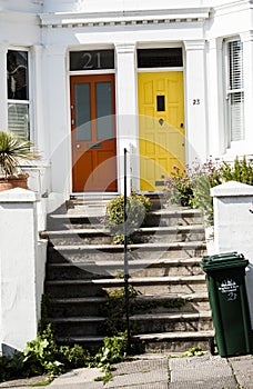
{"label": "orange wooden front door with two frosted glass panels", "polygon": [[117,191],[114,74],[72,76],[73,192]]}

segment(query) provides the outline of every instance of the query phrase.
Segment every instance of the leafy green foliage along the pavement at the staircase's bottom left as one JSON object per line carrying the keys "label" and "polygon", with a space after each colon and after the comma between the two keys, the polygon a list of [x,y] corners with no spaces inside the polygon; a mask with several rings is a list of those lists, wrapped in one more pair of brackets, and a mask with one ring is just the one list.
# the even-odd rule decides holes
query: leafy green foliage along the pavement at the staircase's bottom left
{"label": "leafy green foliage along the pavement at the staircase's bottom left", "polygon": [[102,367],[105,373],[102,380],[105,382],[112,377],[111,365],[122,361],[125,355],[125,333],[105,338],[103,347],[91,356],[78,345],[59,347],[51,325],[48,325],[34,340],[27,343],[23,352],[17,352],[12,358],[0,358],[0,381],[47,375],[50,377],[47,383],[50,383],[53,377],[68,369]]}

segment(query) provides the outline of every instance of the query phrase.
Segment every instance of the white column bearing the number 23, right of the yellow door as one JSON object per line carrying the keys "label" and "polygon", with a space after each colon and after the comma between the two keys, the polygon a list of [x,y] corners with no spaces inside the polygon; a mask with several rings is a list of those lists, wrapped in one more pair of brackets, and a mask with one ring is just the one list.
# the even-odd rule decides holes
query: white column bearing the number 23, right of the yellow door
{"label": "white column bearing the number 23, right of the yellow door", "polygon": [[205,161],[208,157],[205,41],[184,41],[186,160]]}

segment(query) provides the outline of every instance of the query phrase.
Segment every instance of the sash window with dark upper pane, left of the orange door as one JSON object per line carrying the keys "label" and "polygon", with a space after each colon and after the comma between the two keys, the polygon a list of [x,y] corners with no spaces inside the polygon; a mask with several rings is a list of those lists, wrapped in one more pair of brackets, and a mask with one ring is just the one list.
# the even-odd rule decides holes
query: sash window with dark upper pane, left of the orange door
{"label": "sash window with dark upper pane, left of the orange door", "polygon": [[24,139],[30,138],[28,81],[28,51],[8,50],[8,128]]}

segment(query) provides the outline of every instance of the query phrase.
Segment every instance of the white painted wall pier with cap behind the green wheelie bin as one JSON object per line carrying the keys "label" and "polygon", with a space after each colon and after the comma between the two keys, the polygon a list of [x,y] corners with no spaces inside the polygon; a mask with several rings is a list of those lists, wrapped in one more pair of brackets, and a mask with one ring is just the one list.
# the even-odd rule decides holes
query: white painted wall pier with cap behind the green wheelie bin
{"label": "white painted wall pier with cap behind the green wheelie bin", "polygon": [[237,251],[250,261],[246,287],[253,328],[253,187],[230,181],[211,189],[215,253]]}

